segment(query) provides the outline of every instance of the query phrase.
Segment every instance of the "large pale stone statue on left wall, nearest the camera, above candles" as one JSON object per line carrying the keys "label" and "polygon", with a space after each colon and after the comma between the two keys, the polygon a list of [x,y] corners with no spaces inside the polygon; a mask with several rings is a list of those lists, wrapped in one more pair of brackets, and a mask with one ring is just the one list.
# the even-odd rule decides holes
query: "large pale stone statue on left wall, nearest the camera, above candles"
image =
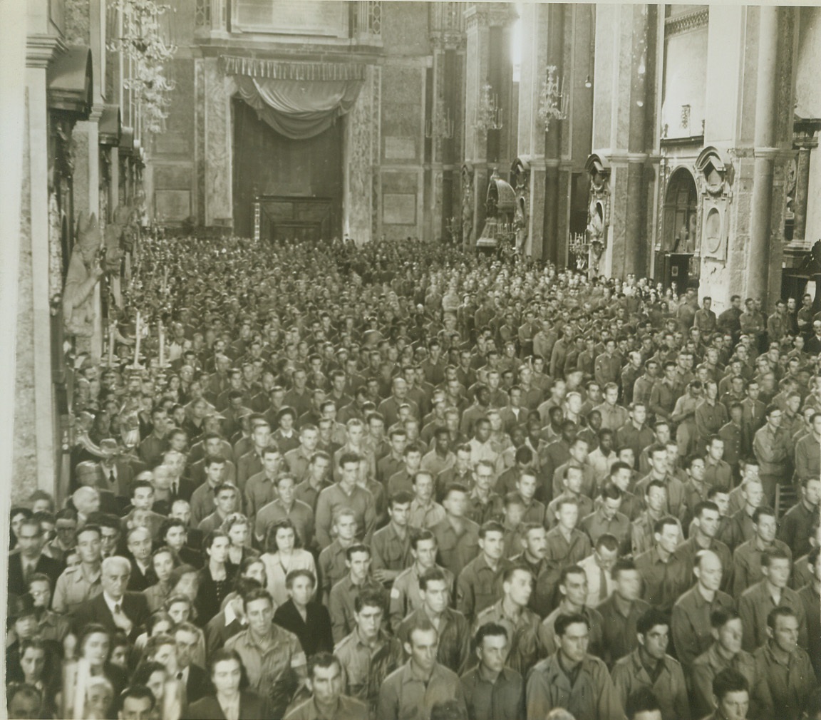
{"label": "large pale stone statue on left wall, nearest the camera, above candles", "polygon": [[62,318],[69,335],[91,337],[94,324],[94,286],[103,274],[97,259],[100,231],[94,213],[80,213],[77,237],[62,289]]}

